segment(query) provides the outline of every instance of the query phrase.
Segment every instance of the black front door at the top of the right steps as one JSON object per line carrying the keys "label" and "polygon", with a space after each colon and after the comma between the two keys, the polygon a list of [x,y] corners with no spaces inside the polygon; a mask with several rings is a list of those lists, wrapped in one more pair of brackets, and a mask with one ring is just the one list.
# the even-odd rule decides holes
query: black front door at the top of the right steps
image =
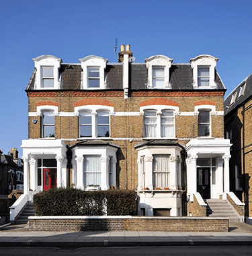
{"label": "black front door at the top of the right steps", "polygon": [[203,199],[210,199],[210,168],[197,168],[197,191]]}

